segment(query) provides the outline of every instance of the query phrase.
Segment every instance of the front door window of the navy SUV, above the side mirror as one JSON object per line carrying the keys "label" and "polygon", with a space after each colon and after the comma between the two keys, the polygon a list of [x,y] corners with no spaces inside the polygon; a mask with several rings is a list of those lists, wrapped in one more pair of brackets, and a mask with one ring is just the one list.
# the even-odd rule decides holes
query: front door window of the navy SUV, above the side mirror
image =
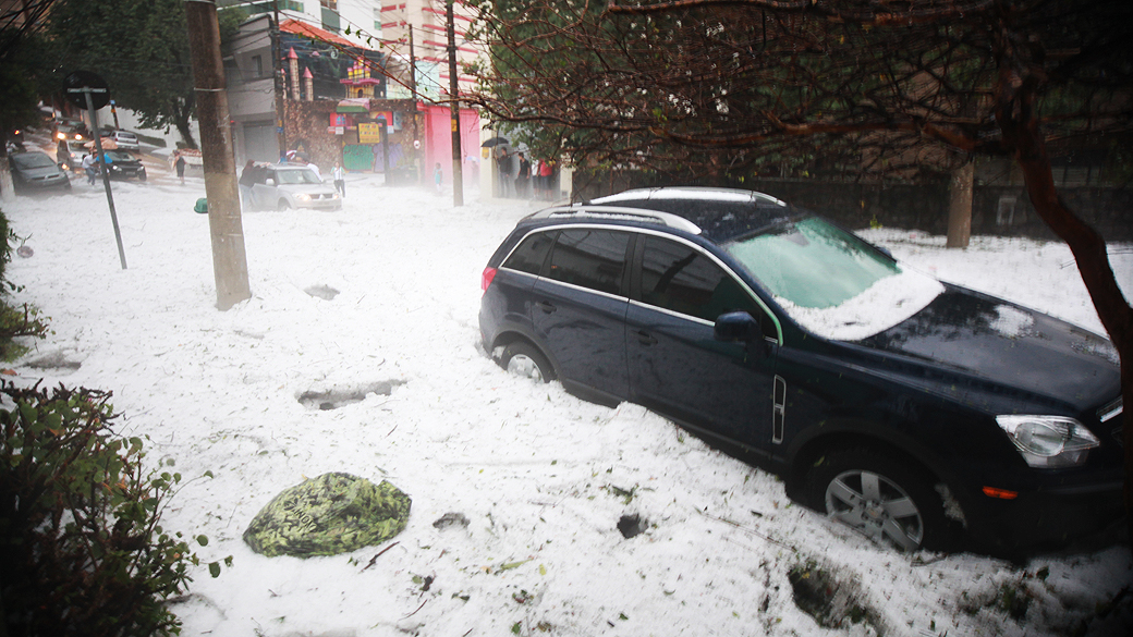
{"label": "front door window of the navy SUV, above the side mirror", "polygon": [[659,237],[645,237],[641,301],[713,323],[747,312],[768,330],[763,308],[731,274],[691,246]]}

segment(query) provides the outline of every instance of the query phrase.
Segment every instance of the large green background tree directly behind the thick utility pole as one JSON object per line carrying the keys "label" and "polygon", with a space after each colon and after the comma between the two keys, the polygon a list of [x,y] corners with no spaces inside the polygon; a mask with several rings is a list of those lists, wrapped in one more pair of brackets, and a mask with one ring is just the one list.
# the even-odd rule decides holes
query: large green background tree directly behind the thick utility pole
{"label": "large green background tree directly behind the thick utility pole", "polygon": [[[189,122],[196,101],[188,31],[181,0],[56,0],[50,33],[61,68],[102,75],[121,108],[136,111],[144,128],[173,127],[196,147]],[[219,14],[227,40],[246,17]]]}

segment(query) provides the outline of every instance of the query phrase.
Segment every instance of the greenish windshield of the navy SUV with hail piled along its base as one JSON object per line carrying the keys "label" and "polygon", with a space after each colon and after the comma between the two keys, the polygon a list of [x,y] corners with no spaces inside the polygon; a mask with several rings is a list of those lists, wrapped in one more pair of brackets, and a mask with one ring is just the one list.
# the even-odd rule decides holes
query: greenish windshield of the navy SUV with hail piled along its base
{"label": "greenish windshield of the navy SUV with hail piled along its base", "polygon": [[792,318],[826,338],[859,340],[923,309],[944,291],[821,219],[781,223],[726,244]]}

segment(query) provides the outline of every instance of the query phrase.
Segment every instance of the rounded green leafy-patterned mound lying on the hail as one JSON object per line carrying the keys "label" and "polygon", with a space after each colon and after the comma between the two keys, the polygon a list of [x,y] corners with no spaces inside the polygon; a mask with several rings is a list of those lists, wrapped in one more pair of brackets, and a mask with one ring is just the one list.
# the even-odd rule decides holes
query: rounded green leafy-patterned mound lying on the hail
{"label": "rounded green leafy-patterned mound lying on the hail", "polygon": [[323,474],[272,499],[244,541],[269,558],[348,553],[401,533],[409,506],[409,496],[386,481],[375,485],[350,474]]}

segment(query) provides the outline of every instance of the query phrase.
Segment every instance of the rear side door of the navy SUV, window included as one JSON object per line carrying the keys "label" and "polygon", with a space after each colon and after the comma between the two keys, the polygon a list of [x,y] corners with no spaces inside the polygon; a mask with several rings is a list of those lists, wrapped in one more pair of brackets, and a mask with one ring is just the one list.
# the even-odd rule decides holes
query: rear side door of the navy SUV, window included
{"label": "rear side door of the navy SUV, window included", "polygon": [[[531,324],[564,385],[624,400],[627,262],[631,235],[560,230],[531,289]],[[569,388],[570,389],[570,388]]]}

